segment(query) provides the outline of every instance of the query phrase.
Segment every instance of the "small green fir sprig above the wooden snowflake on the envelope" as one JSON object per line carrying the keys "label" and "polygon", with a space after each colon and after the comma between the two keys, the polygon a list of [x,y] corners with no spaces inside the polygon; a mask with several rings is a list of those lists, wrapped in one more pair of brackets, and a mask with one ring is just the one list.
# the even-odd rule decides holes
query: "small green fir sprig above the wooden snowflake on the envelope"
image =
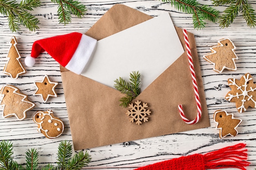
{"label": "small green fir sprig above the wooden snowflake on the envelope", "polygon": [[130,73],[130,82],[126,82],[123,78],[119,77],[116,79],[114,87],[125,94],[124,97],[121,97],[119,100],[121,102],[120,106],[127,107],[128,104],[135,99],[140,93],[140,73],[139,71],[132,71]]}

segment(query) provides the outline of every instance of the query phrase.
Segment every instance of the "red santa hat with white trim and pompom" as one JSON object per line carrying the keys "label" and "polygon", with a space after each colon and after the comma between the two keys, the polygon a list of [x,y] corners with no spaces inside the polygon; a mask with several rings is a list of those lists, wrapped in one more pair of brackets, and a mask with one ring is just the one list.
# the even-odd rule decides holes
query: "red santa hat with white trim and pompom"
{"label": "red santa hat with white trim and pompom", "polygon": [[31,56],[25,58],[27,66],[35,64],[35,58],[46,51],[68,70],[81,74],[88,62],[97,40],[82,33],[69,33],[34,42]]}

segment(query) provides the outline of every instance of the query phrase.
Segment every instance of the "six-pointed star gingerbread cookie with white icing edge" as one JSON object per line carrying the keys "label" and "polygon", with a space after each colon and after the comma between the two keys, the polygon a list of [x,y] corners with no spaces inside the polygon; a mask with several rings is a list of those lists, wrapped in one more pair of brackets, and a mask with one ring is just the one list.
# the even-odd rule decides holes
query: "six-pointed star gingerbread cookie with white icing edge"
{"label": "six-pointed star gingerbread cookie with white icing edge", "polygon": [[49,97],[57,97],[55,92],[55,87],[58,85],[57,82],[51,82],[48,75],[45,75],[44,79],[39,81],[34,81],[36,85],[36,92],[33,95],[40,95],[45,103]]}

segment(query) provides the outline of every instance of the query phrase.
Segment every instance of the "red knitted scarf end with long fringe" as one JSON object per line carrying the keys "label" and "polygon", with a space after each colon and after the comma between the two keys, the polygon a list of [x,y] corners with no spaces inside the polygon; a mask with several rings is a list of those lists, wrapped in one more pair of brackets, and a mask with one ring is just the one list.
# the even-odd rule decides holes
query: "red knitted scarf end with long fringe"
{"label": "red knitted scarf end with long fringe", "polygon": [[245,144],[237,144],[209,152],[194,154],[154,163],[135,170],[207,170],[220,168],[239,168],[246,170],[249,166]]}

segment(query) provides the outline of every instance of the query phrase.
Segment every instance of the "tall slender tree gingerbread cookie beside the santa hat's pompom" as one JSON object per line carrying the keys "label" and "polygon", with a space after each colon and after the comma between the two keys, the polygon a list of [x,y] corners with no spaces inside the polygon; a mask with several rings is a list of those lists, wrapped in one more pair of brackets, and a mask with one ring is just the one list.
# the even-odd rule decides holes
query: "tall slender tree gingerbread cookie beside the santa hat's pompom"
{"label": "tall slender tree gingerbread cookie beside the santa hat's pompom", "polygon": [[26,70],[20,62],[21,57],[16,47],[17,40],[14,36],[11,38],[10,44],[11,46],[7,54],[8,61],[4,66],[3,73],[10,75],[12,79],[17,79],[19,75],[26,73]]}

